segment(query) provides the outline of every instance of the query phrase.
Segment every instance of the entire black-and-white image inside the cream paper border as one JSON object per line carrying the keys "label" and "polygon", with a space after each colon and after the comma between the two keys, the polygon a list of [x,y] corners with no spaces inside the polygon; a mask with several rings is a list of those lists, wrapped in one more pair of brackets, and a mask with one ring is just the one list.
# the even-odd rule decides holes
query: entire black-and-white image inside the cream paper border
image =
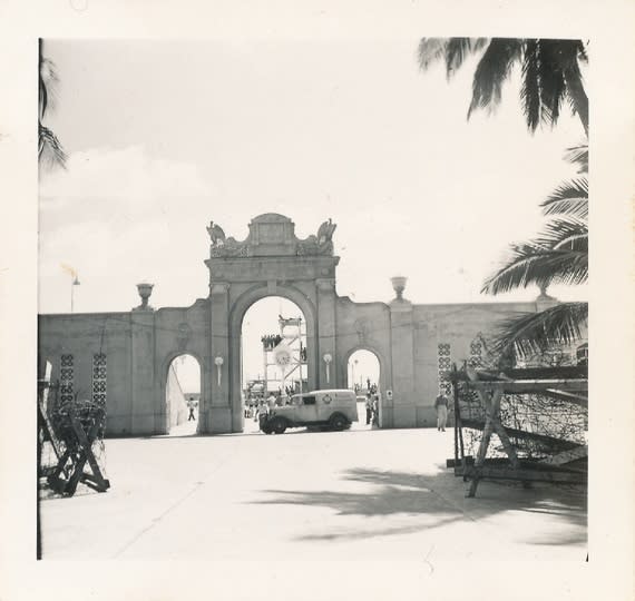
{"label": "entire black-and-white image inside the cream paper border", "polygon": [[41,558],[584,562],[592,56],[41,39]]}

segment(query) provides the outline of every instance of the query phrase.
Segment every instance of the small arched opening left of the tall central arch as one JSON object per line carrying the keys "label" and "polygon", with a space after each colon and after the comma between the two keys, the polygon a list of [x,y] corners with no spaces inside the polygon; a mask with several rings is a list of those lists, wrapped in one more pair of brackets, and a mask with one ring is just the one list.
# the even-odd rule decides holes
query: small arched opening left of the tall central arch
{"label": "small arched opening left of the tall central arch", "polygon": [[188,436],[198,430],[201,403],[201,365],[192,355],[172,359],[165,384],[167,431],[170,435]]}

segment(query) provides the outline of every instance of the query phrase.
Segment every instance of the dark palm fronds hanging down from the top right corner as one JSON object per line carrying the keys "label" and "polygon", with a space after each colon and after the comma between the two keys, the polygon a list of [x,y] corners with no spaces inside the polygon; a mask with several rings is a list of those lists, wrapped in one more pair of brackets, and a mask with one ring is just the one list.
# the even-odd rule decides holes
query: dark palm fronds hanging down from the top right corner
{"label": "dark palm fronds hanging down from the top right corner", "polygon": [[419,65],[426,70],[439,60],[448,79],[466,58],[481,53],[477,65],[468,119],[477,108],[492,110],[500,101],[502,86],[515,66],[521,68],[520,102],[531,132],[541,124],[555,125],[567,101],[588,135],[588,98],[580,63],[588,61],[582,40],[544,38],[423,38]]}

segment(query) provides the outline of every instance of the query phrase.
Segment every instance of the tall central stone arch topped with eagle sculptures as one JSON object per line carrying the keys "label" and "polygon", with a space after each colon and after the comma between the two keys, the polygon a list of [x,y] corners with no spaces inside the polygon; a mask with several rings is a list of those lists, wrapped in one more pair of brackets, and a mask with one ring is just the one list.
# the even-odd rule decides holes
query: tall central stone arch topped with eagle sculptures
{"label": "tall central stone arch topped with eagle sculptures", "polygon": [[[226,238],[218,226],[208,228],[211,354],[226,378],[216,380],[209,407],[213,424],[242,430],[241,328],[247,309],[261,298],[282,296],[295,303],[306,321],[309,387],[325,387],[321,357],[335,348],[335,267],[332,236],[325,221],[315,236],[299,239],[295,225],[282,215],[261,215],[250,224],[245,240]],[[330,377],[335,385],[335,377]],[[221,384],[218,384],[221,382]],[[229,412],[227,412],[229,408]]]}

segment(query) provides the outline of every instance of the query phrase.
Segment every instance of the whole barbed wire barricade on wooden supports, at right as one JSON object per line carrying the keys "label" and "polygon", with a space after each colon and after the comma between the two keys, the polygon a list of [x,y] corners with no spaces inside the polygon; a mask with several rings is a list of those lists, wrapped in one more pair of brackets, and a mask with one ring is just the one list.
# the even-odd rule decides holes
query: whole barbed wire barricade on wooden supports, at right
{"label": "whole barbed wire barricade on wooden supports, at right", "polygon": [[455,393],[455,473],[482,477],[586,482],[586,366],[506,368],[465,365]]}

